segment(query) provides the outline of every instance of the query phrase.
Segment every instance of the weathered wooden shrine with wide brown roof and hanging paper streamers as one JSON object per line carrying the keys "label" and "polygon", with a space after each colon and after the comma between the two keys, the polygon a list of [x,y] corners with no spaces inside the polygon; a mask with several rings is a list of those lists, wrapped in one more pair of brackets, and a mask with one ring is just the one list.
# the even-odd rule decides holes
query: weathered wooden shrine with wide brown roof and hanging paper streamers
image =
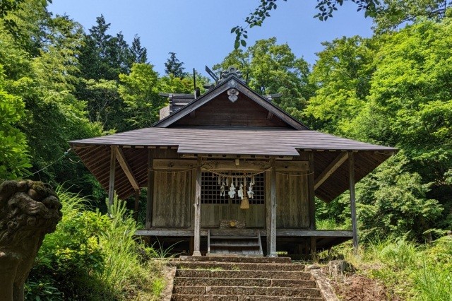
{"label": "weathered wooden shrine with wide brown roof and hanging paper streamers", "polygon": [[[350,239],[357,247],[355,182],[396,148],[313,131],[234,68],[196,96],[165,94],[169,106],[150,128],[70,142],[110,200],[147,189],[136,235],[185,242],[197,256],[309,254]],[[346,190],[352,230],[316,229],[314,198]]]}

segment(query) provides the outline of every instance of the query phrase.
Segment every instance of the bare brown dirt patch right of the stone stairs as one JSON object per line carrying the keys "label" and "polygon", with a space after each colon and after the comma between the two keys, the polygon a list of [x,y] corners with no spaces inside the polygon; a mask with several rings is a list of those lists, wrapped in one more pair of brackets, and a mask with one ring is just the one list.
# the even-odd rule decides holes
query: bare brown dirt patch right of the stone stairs
{"label": "bare brown dirt patch right of the stone stairs", "polygon": [[385,286],[371,278],[359,274],[345,276],[343,280],[333,281],[335,294],[347,301],[399,301],[398,297],[388,297]]}

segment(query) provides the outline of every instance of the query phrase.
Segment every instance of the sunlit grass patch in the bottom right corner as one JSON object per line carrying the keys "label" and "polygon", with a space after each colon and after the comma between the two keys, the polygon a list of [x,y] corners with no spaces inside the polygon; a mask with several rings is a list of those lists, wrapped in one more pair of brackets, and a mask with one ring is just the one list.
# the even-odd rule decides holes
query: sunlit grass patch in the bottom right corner
{"label": "sunlit grass patch in the bottom right corner", "polygon": [[345,260],[360,273],[377,278],[388,288],[388,298],[452,301],[452,237],[432,244],[398,238],[377,240],[359,249],[343,249]]}

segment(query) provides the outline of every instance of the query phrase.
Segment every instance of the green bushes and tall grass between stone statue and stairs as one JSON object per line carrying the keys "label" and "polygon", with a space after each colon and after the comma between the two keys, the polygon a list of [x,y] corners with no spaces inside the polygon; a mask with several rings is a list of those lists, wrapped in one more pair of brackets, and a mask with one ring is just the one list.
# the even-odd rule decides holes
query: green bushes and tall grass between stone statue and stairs
{"label": "green bushes and tall grass between stone statue and stairs", "polygon": [[134,240],[136,224],[125,203],[115,199],[107,216],[87,210],[86,200],[74,194],[57,194],[63,219],[44,239],[28,279],[28,299],[52,293],[54,300],[122,300],[140,292],[152,299],[148,283],[161,280],[150,273],[157,274],[146,260],[151,250]]}

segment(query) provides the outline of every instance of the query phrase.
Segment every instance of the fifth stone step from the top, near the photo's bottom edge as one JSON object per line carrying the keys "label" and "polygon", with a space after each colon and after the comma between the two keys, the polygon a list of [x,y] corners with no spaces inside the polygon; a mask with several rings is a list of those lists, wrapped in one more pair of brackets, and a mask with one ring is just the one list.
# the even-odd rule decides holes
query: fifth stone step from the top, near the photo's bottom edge
{"label": "fifth stone step from the top, near the photo's bottom edge", "polygon": [[274,297],[321,298],[317,288],[275,288],[251,286],[179,286],[174,285],[173,294],[180,295],[246,295]]}

